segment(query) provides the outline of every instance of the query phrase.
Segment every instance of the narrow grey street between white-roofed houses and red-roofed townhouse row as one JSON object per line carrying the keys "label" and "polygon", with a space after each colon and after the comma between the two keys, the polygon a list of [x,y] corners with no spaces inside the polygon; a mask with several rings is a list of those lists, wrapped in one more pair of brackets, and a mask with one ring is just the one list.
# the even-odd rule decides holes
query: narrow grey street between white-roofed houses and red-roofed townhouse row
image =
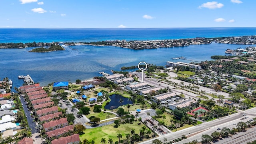
{"label": "narrow grey street between white-roofed houses and red-roofed townhouse row", "polygon": [[27,120],[28,120],[28,126],[31,128],[31,132],[32,132],[32,134],[34,134],[34,133],[36,133],[37,131],[36,131],[36,123],[35,122],[33,122],[33,119],[31,118],[31,116],[30,116],[30,111],[28,111],[28,107],[27,107],[27,102],[25,102],[24,101],[24,98],[23,98],[23,96],[20,96],[20,101],[21,101],[21,103],[23,104],[23,110],[24,110],[24,112],[25,112],[25,115],[27,116]]}

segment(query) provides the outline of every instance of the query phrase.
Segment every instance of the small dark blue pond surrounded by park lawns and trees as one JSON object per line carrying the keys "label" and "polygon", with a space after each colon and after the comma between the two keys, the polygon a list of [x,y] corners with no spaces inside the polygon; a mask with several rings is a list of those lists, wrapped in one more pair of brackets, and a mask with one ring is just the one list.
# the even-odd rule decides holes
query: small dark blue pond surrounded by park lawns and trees
{"label": "small dark blue pond surrounded by park lawns and trees", "polygon": [[109,103],[107,103],[105,106],[105,108],[108,110],[116,109],[116,108],[118,108],[118,106],[121,106],[121,104],[119,103],[120,99],[122,99],[124,101],[122,103],[122,106],[126,105],[126,104],[132,104],[132,101],[128,100],[128,98],[121,96],[120,94],[113,94],[113,95],[109,96],[109,98],[111,99],[111,101]]}

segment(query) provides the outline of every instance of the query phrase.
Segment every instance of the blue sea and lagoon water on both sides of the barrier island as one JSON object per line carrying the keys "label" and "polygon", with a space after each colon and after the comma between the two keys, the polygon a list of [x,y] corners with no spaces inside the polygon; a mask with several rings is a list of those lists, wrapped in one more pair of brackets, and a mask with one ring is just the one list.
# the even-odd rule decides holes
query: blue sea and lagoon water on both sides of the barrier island
{"label": "blue sea and lagoon water on both sides of the barrier island", "polygon": [[[7,42],[93,42],[102,40],[166,40],[179,38],[214,38],[256,35],[256,28],[0,28],[0,43]],[[30,74],[34,82],[45,86],[51,82],[102,76],[99,72],[118,70],[122,66],[137,66],[144,61],[164,66],[174,57],[211,60],[212,55],[225,55],[228,48],[254,45],[206,44],[184,47],[131,50],[114,46],[71,46],[65,51],[32,53],[33,48],[0,49],[0,80],[8,77],[13,87],[22,86],[18,75]]]}

